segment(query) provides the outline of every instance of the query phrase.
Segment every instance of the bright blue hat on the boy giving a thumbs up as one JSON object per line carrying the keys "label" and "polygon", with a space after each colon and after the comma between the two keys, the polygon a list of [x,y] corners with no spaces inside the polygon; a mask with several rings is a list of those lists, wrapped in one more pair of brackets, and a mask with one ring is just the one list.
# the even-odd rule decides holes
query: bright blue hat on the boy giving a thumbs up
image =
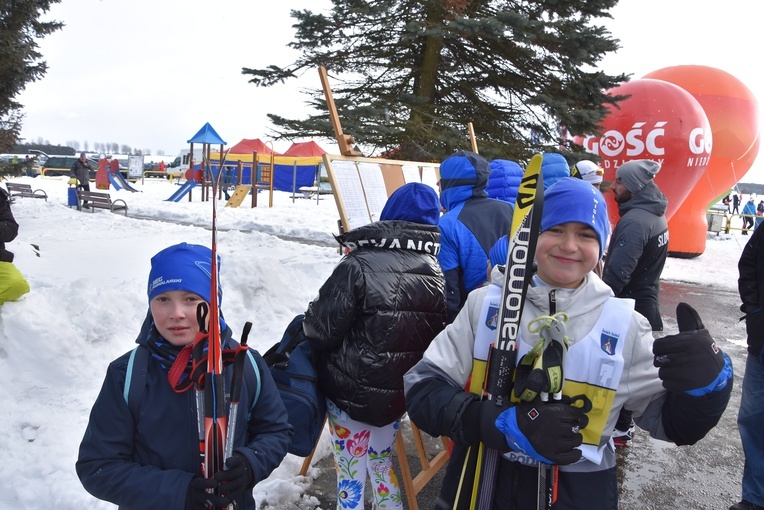
{"label": "bright blue hat on the boy giving a thumbs up", "polygon": [[607,247],[610,220],[602,193],[588,182],[574,177],[564,177],[552,184],[544,193],[544,212],[541,214],[541,231],[576,221],[589,225],[597,233],[600,242],[600,258]]}

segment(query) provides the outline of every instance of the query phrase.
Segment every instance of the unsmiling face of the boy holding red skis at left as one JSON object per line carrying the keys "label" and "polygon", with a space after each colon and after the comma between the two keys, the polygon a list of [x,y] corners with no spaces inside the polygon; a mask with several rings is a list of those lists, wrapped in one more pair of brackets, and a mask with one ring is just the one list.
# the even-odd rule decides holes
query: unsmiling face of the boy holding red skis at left
{"label": "unsmiling face of the boy holding red skis at left", "polygon": [[203,302],[198,294],[185,290],[170,290],[151,300],[151,315],[162,338],[176,347],[194,341],[199,331],[196,309]]}

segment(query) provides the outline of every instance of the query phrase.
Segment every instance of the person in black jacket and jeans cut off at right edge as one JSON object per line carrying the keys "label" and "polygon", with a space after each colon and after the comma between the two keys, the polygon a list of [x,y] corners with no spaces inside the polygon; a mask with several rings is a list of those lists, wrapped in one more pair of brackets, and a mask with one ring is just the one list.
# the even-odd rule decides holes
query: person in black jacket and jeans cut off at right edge
{"label": "person in black jacket and jeans cut off at right edge", "polygon": [[730,510],[764,510],[764,229],[757,228],[738,262],[740,310],[745,313],[748,358],[737,425],[743,443],[743,494]]}

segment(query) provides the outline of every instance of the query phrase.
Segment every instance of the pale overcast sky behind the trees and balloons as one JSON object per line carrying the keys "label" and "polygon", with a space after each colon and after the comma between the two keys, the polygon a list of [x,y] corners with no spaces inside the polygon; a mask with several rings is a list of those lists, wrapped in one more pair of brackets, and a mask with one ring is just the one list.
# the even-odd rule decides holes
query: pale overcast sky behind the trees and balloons
{"label": "pale overcast sky behind the trees and balloons", "polygon": [[[26,112],[22,136],[87,141],[90,148],[118,143],[169,155],[210,122],[229,145],[242,138],[267,140],[266,114],[302,116],[300,88],[320,87],[318,72],[263,89],[248,84],[241,68],[294,61],[296,53],[286,47],[294,33],[290,10],[330,5],[63,0],[48,18],[66,26],[40,45],[48,73],[19,98]],[[716,67],[764,101],[761,23],[750,6],[745,0],[621,0],[606,24],[622,49],[602,68],[641,78],[674,65]],[[764,156],[746,177],[764,180]]]}

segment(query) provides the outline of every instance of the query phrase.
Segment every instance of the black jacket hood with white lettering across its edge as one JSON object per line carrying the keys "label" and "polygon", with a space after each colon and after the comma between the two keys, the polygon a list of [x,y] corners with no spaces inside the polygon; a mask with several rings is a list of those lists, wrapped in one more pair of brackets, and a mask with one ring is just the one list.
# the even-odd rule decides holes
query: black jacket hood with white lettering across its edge
{"label": "black jacket hood with white lettering across its edge", "polygon": [[335,236],[344,248],[411,250],[430,255],[440,252],[440,230],[437,225],[411,221],[377,221]]}

